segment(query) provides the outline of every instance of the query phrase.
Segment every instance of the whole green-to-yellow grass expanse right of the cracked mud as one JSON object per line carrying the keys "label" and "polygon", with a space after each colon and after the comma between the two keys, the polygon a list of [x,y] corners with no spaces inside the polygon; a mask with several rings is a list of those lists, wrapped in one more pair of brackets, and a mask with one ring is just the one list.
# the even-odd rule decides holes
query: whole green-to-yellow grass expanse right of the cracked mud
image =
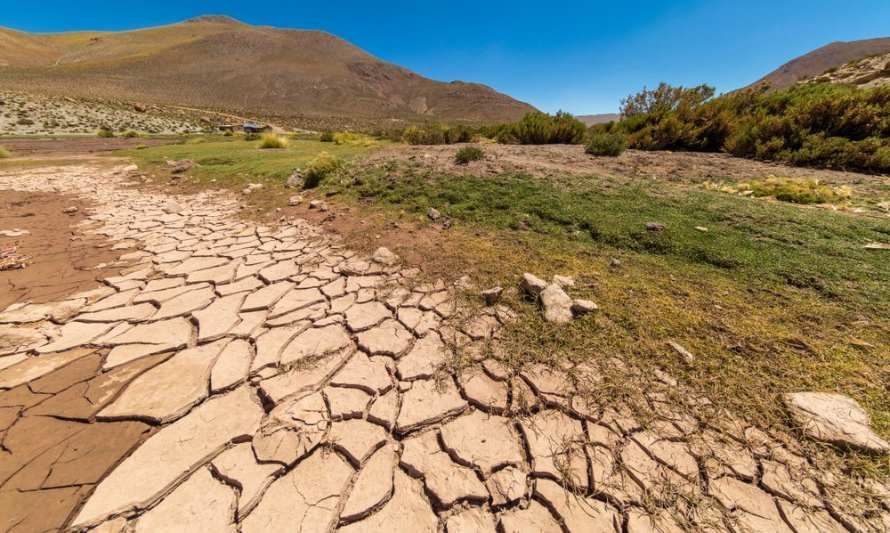
{"label": "whole green-to-yellow grass expanse right of the cracked mud", "polygon": [[[520,320],[504,352],[517,364],[617,355],[784,429],[782,393],[839,391],[890,435],[890,262],[862,248],[890,241],[886,219],[650,180],[479,178],[411,166],[353,173],[322,189],[392,218],[423,224],[435,207],[456,221],[455,242],[437,245],[425,270],[471,273],[480,286],[509,286],[524,271],[568,274],[579,280],[575,296],[599,303],[598,317],[556,327],[534,304],[511,301]],[[650,221],[666,229],[647,231]],[[622,266],[610,267],[611,258]],[[668,340],[692,350],[695,364]],[[890,461],[850,463],[890,474]]]}

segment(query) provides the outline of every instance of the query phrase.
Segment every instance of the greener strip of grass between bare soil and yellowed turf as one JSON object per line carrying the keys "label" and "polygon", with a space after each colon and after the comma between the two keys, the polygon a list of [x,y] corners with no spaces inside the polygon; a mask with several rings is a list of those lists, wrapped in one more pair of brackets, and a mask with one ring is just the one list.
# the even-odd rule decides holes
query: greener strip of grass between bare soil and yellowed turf
{"label": "greener strip of grass between bare soil and yellowed turf", "polygon": [[[663,256],[890,312],[890,264],[862,248],[890,240],[886,220],[594,177],[553,184],[523,175],[378,173],[343,192],[415,213],[432,206],[494,229],[528,228],[600,251]],[[667,229],[647,231],[650,221]]]}

